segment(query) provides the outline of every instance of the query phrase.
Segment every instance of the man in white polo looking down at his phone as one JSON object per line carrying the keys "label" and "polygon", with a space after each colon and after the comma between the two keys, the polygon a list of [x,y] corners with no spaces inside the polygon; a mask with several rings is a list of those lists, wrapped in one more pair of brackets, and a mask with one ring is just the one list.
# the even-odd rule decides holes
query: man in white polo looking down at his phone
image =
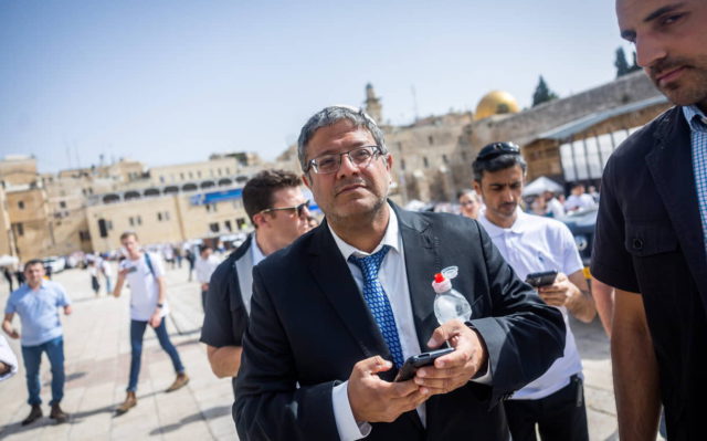
{"label": "man in white polo looking down at his phone", "polygon": [[518,208],[527,165],[515,144],[489,144],[472,168],[474,189],[486,204],[479,223],[521,280],[535,272],[558,271],[555,282],[539,287],[538,294],[560,309],[567,327],[563,356],[504,405],[513,439],[535,440],[537,424],[544,441],[589,440],[582,363],[568,313],[589,323],[597,311],[572,233],[557,220]]}

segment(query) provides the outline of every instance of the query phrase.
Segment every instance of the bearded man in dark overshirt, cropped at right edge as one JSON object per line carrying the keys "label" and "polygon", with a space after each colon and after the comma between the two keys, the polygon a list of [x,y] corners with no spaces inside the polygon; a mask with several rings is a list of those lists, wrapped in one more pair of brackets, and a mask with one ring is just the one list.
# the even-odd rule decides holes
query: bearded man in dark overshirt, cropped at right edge
{"label": "bearded man in dark overshirt, cropped at right edge", "polygon": [[621,35],[676,106],[612,155],[592,273],[616,287],[612,329],[622,440],[704,437],[707,381],[707,1],[618,0]]}

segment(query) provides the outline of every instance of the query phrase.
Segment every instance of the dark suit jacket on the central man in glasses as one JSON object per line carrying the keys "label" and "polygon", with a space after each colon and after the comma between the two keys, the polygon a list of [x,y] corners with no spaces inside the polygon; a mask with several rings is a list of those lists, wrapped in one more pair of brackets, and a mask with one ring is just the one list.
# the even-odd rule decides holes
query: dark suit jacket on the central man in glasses
{"label": "dark suit jacket on the central man in glasses", "polygon": [[[488,347],[493,387],[469,382],[434,396],[426,401],[426,430],[410,411],[372,424],[367,440],[507,439],[503,406],[496,405],[562,354],[562,317],[515,276],[475,221],[394,209],[420,347],[439,326],[433,274],[457,265],[453,283],[469,301],[472,323]],[[357,361],[392,358],[327,225],[255,266],[253,280],[233,407],[239,437],[338,439],[331,388]],[[394,374],[381,377],[392,380]]]}

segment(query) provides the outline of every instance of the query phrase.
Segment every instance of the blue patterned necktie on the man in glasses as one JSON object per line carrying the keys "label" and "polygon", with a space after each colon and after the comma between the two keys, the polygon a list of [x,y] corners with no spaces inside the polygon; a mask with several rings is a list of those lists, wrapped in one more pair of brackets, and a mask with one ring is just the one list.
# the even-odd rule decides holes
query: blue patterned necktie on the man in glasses
{"label": "blue patterned necktie on the man in glasses", "polygon": [[373,314],[373,318],[376,318],[378,328],[383,335],[390,354],[393,356],[395,366],[400,368],[404,360],[402,358],[400,338],[398,337],[398,328],[395,327],[395,317],[393,316],[393,309],[390,307],[390,302],[388,301],[383,285],[381,285],[378,280],[378,270],[389,250],[390,246],[383,245],[383,248],[374,254],[366,258],[351,255],[349,256],[349,261],[361,269],[361,273],[363,273],[363,298],[371,314]]}

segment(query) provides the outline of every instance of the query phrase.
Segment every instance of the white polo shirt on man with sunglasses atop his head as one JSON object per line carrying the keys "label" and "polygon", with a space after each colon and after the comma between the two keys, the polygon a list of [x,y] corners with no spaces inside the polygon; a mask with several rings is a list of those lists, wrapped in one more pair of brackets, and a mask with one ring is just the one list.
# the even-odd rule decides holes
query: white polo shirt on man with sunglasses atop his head
{"label": "white polo shirt on man with sunglasses atop his head", "polygon": [[[564,223],[521,210],[517,214],[516,222],[508,229],[490,223],[485,214],[479,216],[478,221],[518,277],[525,280],[530,273],[550,270],[570,275],[583,267],[574,238]],[[567,328],[564,355],[555,360],[540,378],[514,393],[513,399],[545,398],[567,386],[572,375],[581,376],[582,360],[570,329],[567,307],[559,309]]]}

